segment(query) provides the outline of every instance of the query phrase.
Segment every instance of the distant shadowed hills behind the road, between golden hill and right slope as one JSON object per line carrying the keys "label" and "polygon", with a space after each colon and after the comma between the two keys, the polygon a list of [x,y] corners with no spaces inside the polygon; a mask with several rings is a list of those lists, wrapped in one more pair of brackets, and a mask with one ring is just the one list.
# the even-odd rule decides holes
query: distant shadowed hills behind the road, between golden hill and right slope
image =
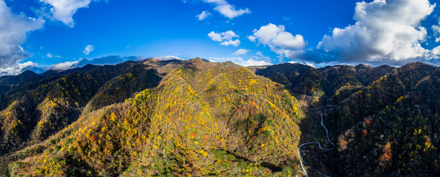
{"label": "distant shadowed hills behind the road, between golden hill and right slope", "polygon": [[299,63],[284,63],[258,69],[255,73],[284,85],[292,93],[312,97],[328,96],[331,103],[337,104],[394,68],[388,65],[372,67],[359,64],[316,69]]}

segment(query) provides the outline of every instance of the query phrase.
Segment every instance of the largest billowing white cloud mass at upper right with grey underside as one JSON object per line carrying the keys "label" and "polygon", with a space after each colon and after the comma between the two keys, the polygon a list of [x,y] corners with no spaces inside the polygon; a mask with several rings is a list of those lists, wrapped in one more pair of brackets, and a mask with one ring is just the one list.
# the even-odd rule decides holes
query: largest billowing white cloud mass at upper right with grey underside
{"label": "largest billowing white cloud mass at upper right with grey underside", "polygon": [[427,30],[420,26],[436,4],[429,0],[357,2],[355,25],[335,28],[317,48],[349,62],[402,64],[428,55],[421,47]]}

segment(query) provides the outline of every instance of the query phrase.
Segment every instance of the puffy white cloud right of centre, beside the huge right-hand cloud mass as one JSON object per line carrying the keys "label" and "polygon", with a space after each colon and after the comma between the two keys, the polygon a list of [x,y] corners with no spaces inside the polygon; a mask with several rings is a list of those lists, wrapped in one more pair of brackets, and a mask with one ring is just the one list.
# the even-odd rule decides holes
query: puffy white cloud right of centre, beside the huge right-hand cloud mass
{"label": "puffy white cloud right of centre, beside the huge right-hand cloud mass", "polygon": [[307,45],[302,35],[292,35],[285,31],[284,25],[268,24],[260,29],[254,29],[253,35],[247,36],[252,42],[268,45],[271,51],[278,55],[292,58],[297,56]]}

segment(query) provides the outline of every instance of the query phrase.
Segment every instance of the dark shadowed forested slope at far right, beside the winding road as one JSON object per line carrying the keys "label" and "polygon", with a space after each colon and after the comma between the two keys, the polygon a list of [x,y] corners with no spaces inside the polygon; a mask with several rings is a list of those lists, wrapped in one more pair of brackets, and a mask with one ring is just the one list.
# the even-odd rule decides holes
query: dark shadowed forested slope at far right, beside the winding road
{"label": "dark shadowed forested slope at far right, beside the winding road", "polygon": [[[329,112],[338,137],[338,176],[437,176],[440,71],[425,63],[394,69]],[[437,175],[436,175],[437,174]]]}

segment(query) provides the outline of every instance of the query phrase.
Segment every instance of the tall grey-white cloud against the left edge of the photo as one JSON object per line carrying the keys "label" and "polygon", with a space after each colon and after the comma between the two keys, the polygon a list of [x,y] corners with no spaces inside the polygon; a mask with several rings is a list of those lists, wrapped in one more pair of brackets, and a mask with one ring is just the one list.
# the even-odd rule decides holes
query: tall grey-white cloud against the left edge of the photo
{"label": "tall grey-white cloud against the left edge of the photo", "polygon": [[20,45],[26,42],[28,32],[43,28],[44,22],[41,18],[27,17],[24,13],[15,14],[4,0],[0,0],[0,76],[21,72],[24,63],[19,62],[32,54],[24,51]]}

